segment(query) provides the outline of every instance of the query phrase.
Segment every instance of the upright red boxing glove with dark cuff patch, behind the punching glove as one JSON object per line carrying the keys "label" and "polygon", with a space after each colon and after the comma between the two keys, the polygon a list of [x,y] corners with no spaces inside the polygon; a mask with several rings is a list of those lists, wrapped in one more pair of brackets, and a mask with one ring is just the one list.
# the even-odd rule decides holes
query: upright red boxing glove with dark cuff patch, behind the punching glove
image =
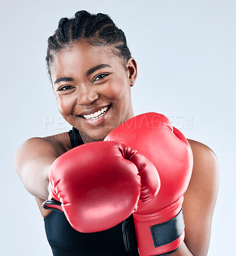
{"label": "upright red boxing glove with dark cuff patch, behind the punching glove", "polygon": [[140,255],[168,255],[184,241],[183,195],[193,168],[191,147],[163,115],[146,113],[129,119],[105,141],[119,141],[144,154],[158,170],[161,188],[133,212]]}

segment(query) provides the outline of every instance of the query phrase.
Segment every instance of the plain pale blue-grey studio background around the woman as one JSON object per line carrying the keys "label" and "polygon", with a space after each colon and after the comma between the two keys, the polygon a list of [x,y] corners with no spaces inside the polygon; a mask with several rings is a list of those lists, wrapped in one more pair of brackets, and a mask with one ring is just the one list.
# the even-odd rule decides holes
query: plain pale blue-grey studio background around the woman
{"label": "plain pale blue-grey studio background around the woman", "polygon": [[219,159],[210,256],[235,253],[236,3],[200,1],[1,1],[0,255],[52,255],[43,218],[13,166],[27,138],[68,131],[47,76],[47,38],[77,10],[108,13],[138,62],[135,115],[168,116]]}

